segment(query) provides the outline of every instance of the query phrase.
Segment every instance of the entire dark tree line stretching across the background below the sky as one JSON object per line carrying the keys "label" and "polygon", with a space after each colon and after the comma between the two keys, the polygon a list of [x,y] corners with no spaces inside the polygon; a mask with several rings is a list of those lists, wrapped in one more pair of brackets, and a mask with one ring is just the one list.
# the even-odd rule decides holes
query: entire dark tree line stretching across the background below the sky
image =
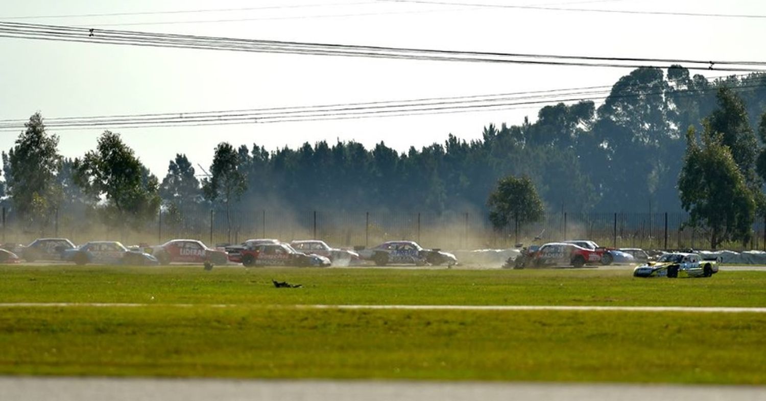
{"label": "entire dark tree line stretching across the background below the sky", "polygon": [[[689,183],[701,182],[699,171],[710,163],[686,168],[685,160],[716,160],[704,152],[719,154],[723,146],[751,194],[743,204],[763,214],[764,110],[764,73],[708,80],[679,66],[647,67],[621,77],[598,107],[592,101],[545,106],[535,122],[490,124],[481,139],[449,134],[444,143],[407,152],[382,141],[370,149],[321,141],[273,151],[221,143],[204,178],[179,153],[162,180],[109,131],[82,157],[61,157],[57,135],[36,113],[2,154],[0,191],[4,206],[29,227],[44,227],[56,210],[137,227],[160,208],[173,216],[216,207],[229,216],[234,207],[273,204],[349,212],[470,209],[489,217],[496,211],[489,194],[508,176],[529,178],[548,211],[694,214],[699,193]],[[719,185],[711,180],[707,193]],[[735,220],[724,225],[738,226]]]}

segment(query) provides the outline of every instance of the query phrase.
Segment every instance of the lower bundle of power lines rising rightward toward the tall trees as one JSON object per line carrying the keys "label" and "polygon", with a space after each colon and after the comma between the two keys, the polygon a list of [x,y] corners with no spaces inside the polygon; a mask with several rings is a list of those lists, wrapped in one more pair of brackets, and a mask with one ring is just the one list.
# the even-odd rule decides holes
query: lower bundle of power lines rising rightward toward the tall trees
{"label": "lower bundle of power lines rising rightward toward the tall trees", "polygon": [[[735,77],[735,76],[732,76]],[[124,129],[175,126],[210,126],[270,122],[317,121],[332,119],[359,119],[381,116],[413,116],[453,112],[476,112],[498,109],[519,109],[550,103],[569,103],[583,100],[602,100],[637,96],[663,96],[664,92],[650,91],[640,94],[611,94],[610,86],[588,86],[567,90],[541,90],[492,95],[431,97],[423,99],[390,100],[366,103],[339,103],[316,106],[272,107],[263,109],[234,109],[210,112],[173,112],[116,116],[60,117],[46,119],[51,129]],[[764,83],[737,86],[746,92],[766,88]],[[698,96],[710,93],[716,87],[697,91],[681,91],[676,96]],[[25,120],[0,120],[0,132],[22,129]]]}

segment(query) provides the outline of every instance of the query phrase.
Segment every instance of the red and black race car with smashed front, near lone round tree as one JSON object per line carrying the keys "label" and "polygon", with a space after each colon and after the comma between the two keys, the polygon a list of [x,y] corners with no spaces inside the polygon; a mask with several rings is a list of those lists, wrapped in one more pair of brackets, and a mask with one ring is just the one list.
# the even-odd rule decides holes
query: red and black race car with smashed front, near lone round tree
{"label": "red and black race car with smashed front, near lone round tree", "polygon": [[601,262],[601,255],[593,249],[583,248],[574,243],[546,243],[538,249],[520,253],[514,261],[514,269],[528,267],[573,266],[583,267],[586,264]]}

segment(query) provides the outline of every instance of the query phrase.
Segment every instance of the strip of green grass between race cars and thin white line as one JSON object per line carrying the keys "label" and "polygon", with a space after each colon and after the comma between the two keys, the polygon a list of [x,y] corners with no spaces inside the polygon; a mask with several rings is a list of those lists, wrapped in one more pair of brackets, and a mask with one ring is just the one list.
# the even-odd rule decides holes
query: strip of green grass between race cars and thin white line
{"label": "strip of green grass between race cars and thin white line", "polygon": [[[275,289],[271,279],[303,289]],[[766,307],[766,272],[636,279],[630,270],[0,266],[0,302]]]}

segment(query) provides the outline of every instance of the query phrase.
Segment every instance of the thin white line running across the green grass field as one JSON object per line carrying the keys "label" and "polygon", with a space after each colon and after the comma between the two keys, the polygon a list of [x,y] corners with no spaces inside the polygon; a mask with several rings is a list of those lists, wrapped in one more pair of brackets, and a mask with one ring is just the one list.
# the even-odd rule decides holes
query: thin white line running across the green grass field
{"label": "thin white line running across the green grass field", "polygon": [[704,312],[766,313],[766,308],[696,307],[696,306],[546,306],[546,305],[248,305],[248,304],[136,304],[85,302],[6,302],[0,308],[272,308],[272,309],[390,309],[421,311],[639,311],[639,312]]}

